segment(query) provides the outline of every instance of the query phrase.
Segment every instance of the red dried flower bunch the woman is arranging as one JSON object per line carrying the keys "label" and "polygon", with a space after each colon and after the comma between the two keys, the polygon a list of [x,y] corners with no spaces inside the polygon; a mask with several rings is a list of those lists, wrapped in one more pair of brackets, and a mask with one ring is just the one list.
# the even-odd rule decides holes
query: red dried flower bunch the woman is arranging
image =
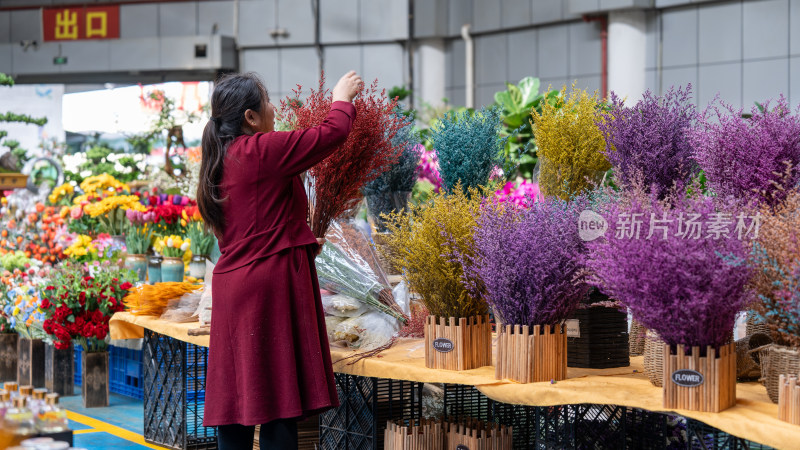
{"label": "red dried flower bunch the woman is arranging", "polygon": [[[330,91],[324,88],[324,75],[319,90],[311,90],[305,102],[300,101],[302,87],[294,97],[281,100],[280,119],[293,129],[320,125],[331,109]],[[353,99],[356,120],[347,140],[328,158],[309,171],[314,178],[315,198],[311,229],[324,237],[331,221],[352,209],[361,199],[361,188],[397,163],[403,145],[392,144],[392,137],[403,127],[394,113],[396,99],[388,99],[386,91],[378,91],[377,80]]]}

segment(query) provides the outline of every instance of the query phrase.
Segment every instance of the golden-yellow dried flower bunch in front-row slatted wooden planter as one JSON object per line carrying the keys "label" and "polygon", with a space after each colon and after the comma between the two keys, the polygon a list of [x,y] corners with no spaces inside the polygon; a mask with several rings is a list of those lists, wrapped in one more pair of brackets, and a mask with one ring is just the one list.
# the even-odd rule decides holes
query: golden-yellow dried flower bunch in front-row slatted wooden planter
{"label": "golden-yellow dried flower bunch in front-row slatted wooden planter", "polygon": [[464,193],[459,185],[451,194],[436,194],[407,213],[387,217],[389,234],[381,251],[402,268],[409,288],[435,316],[461,318],[488,311],[486,302],[464,286],[464,269],[455,257],[473,252],[482,201],[476,189]]}

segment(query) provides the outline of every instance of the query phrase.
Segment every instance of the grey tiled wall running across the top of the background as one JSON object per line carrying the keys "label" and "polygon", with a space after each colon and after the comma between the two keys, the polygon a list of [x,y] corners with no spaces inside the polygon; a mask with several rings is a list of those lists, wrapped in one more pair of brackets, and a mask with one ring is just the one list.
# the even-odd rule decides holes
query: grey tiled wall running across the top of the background
{"label": "grey tiled wall running across the top of the background", "polygon": [[[75,3],[0,0],[0,7]],[[94,3],[87,1],[86,3]],[[321,0],[321,43],[329,78],[356,69],[382,87],[407,81],[408,0]],[[127,4],[121,7],[124,45],[108,58],[102,43],[68,43],[70,64],[158,68],[176,58],[158,38],[232,35],[232,0]],[[259,72],[275,96],[296,83],[313,86],[319,61],[313,47],[310,0],[240,0],[239,68]],[[475,40],[476,102],[489,103],[506,81],[524,76],[544,87],[600,88],[600,25],[581,14],[616,7],[647,8],[647,87],[657,92],[692,83],[700,105],[717,93],[735,106],[784,93],[800,103],[800,0],[414,0],[415,38],[445,40],[446,95],[464,103],[462,24]],[[20,40],[39,39],[37,10],[0,11],[0,71],[25,68]],[[284,28],[287,38],[270,31]],[[5,45],[3,45],[5,43]],[[660,51],[659,51],[660,49]],[[41,50],[40,50],[41,51]],[[74,55],[74,56],[73,56]],[[417,67],[417,70],[426,70]],[[334,80],[331,80],[334,81]]]}

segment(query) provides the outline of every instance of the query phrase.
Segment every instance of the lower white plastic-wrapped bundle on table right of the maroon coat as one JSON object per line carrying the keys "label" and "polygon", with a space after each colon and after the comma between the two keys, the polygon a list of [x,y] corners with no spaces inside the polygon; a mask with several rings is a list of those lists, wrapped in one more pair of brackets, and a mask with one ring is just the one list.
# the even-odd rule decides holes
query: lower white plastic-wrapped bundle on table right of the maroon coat
{"label": "lower white plastic-wrapped bundle on table right of the maroon coat", "polygon": [[400,324],[396,320],[372,311],[339,322],[329,333],[332,341],[346,341],[350,347],[366,351],[388,343],[398,331]]}

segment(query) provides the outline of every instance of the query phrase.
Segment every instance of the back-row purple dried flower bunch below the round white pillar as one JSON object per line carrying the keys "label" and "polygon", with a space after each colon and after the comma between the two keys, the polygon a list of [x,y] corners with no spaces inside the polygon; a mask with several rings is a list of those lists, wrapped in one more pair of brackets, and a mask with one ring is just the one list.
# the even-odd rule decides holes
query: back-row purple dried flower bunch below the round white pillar
{"label": "back-row purple dried flower bunch below the round white pillar", "polygon": [[688,181],[696,170],[685,137],[697,114],[691,92],[691,84],[660,97],[648,90],[632,107],[611,93],[611,104],[597,125],[620,184],[639,182],[663,198],[676,183]]}

